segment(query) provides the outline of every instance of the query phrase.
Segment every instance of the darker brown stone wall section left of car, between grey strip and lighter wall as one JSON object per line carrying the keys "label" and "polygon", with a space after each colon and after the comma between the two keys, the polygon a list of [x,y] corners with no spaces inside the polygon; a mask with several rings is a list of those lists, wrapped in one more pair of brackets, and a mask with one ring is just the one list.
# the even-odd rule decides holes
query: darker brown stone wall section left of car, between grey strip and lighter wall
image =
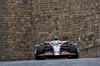
{"label": "darker brown stone wall section left of car, between grey strip and lighter wall", "polygon": [[8,0],[6,60],[33,59],[34,29],[31,0]]}

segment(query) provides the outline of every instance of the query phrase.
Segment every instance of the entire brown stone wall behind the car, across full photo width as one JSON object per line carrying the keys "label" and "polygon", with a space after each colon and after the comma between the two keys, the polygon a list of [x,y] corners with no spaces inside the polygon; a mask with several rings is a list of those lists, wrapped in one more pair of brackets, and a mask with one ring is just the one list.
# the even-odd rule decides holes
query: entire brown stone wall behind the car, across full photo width
{"label": "entire brown stone wall behind the car, across full photo width", "polygon": [[0,60],[34,59],[34,45],[76,42],[79,49],[100,45],[99,0],[2,0]]}

